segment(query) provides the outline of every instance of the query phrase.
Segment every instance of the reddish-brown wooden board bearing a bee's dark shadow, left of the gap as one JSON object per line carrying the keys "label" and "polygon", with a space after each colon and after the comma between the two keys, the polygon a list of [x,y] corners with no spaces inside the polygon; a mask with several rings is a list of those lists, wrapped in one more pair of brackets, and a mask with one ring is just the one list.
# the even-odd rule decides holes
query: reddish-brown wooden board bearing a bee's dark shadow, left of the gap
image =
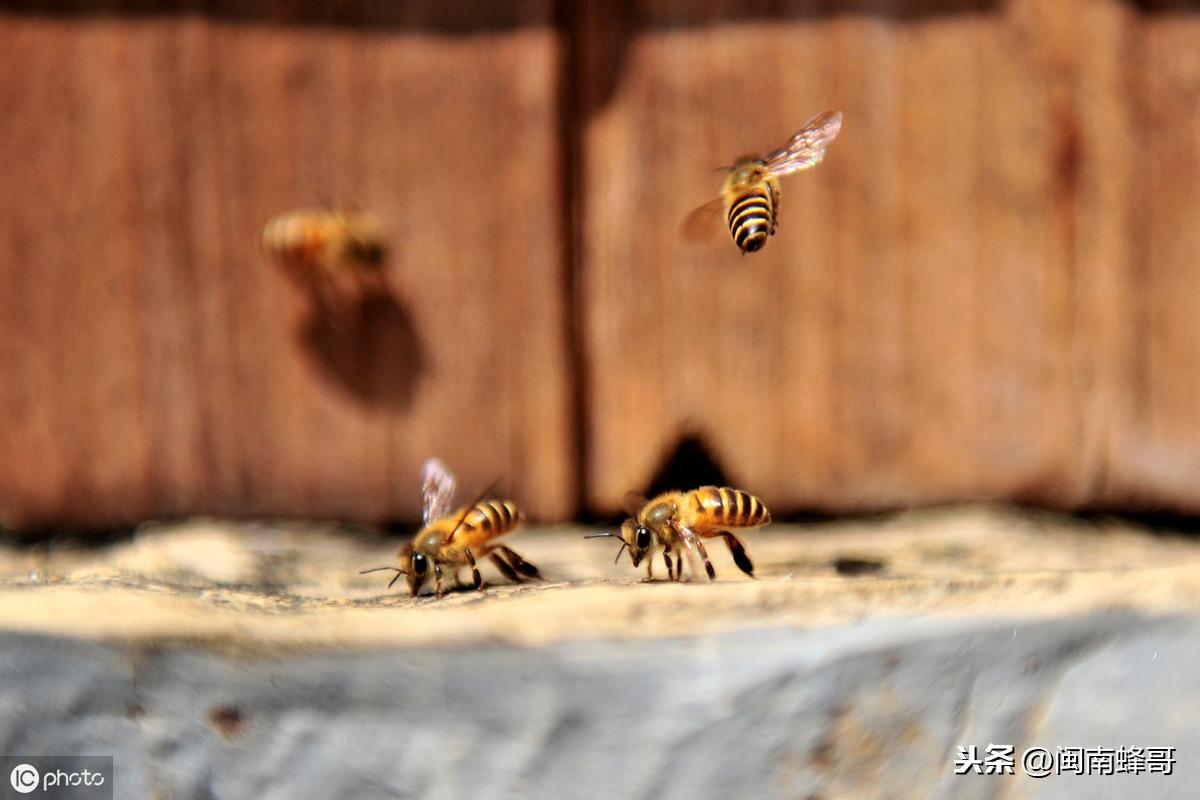
{"label": "reddish-brown wooden board bearing a bee's dark shadow, left of the gap", "polygon": [[[412,518],[431,455],[574,509],[550,2],[32,5],[0,7],[0,525]],[[396,254],[335,324],[254,242],[347,203]]]}

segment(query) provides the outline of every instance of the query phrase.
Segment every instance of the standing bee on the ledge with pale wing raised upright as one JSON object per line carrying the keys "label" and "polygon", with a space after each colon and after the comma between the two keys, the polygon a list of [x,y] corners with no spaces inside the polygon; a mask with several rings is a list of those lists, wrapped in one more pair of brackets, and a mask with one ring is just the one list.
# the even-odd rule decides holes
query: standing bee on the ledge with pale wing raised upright
{"label": "standing bee on the ledge with pale wing raised upright", "polygon": [[[538,567],[496,542],[512,533],[524,522],[524,515],[509,500],[485,500],[492,487],[484,491],[474,503],[450,511],[455,480],[450,470],[437,458],[425,462],[421,480],[422,528],[413,541],[400,548],[403,566],[379,566],[362,570],[359,575],[391,570],[396,576],[388,584],[390,589],[400,576],[408,579],[408,591],[414,597],[433,575],[433,594],[440,597],[443,567],[449,567],[455,582],[458,570],[470,567],[475,589],[482,585],[475,561],[485,555],[509,581],[521,582],[521,577],[538,578]],[[461,585],[461,584],[460,584]]]}

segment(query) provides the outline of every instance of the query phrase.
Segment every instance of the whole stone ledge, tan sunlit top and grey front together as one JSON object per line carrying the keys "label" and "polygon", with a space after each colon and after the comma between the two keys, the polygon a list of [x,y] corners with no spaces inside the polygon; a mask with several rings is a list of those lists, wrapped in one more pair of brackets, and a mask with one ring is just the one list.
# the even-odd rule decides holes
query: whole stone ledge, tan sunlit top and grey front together
{"label": "whole stone ledge, tan sunlit top and grey front together", "polygon": [[[442,601],[394,542],[215,522],[0,555],[6,752],[130,798],[1194,796],[1200,546],[937,511],[749,534],[637,583],[582,531]],[[611,545],[611,542],[606,542]],[[839,567],[840,570],[839,571]],[[1174,746],[1175,775],[953,775],[959,745]]]}

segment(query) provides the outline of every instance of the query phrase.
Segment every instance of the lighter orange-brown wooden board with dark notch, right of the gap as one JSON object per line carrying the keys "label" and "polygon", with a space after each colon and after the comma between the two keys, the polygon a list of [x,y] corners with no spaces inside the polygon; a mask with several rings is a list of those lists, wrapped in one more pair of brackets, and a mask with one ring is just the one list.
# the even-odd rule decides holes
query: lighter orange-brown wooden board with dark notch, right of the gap
{"label": "lighter orange-brown wooden board with dark notch, right of the gap", "polygon": [[[587,5],[594,506],[692,435],[785,509],[1200,510],[1200,16]],[[678,235],[710,167],[828,108],[761,253]]]}

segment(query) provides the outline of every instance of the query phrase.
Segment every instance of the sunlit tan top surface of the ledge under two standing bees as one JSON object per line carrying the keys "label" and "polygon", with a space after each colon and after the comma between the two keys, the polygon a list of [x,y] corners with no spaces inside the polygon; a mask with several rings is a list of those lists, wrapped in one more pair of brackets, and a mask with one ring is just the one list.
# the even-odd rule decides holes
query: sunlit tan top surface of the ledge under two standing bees
{"label": "sunlit tan top surface of the ledge under two standing bees", "polygon": [[430,588],[410,599],[402,579],[386,589],[389,573],[359,575],[394,564],[398,541],[319,525],[196,521],[151,525],[108,548],[4,548],[0,628],[131,640],[194,636],[251,649],[540,645],[748,625],[808,628],[863,615],[1200,608],[1200,545],[1118,522],[979,509],[775,525],[744,536],[756,581],[712,546],[713,584],[668,584],[661,561],[659,581],[643,583],[644,570],[628,557],[612,563],[612,540],[584,533],[517,533],[508,543],[545,581],[514,585],[485,561],[484,593],[442,600]]}

